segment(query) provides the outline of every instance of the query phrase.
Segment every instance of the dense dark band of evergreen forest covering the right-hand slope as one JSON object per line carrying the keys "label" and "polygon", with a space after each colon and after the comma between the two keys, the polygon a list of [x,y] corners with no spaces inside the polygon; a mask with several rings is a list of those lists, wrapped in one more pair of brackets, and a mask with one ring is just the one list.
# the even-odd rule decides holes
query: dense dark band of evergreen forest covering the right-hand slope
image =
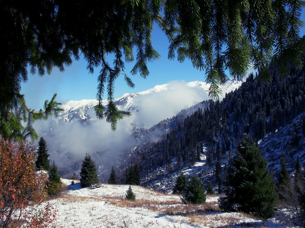
{"label": "dense dark band of evergreen forest covering the right-hand slope", "polygon": [[[202,102],[201,108],[184,120],[179,114],[173,117],[174,127],[163,140],[150,143],[149,148],[147,144],[138,148],[135,162],[141,164],[142,177],[163,165],[179,171],[206,155],[207,166],[216,169],[216,179],[221,184],[221,164],[231,161],[235,145],[244,134],[261,140],[305,112],[305,68],[292,68],[285,78],[272,67],[269,71],[271,81],[250,74],[239,89],[226,94],[222,101]],[[304,116],[301,119],[298,126],[293,124],[289,151],[282,152],[291,155],[296,151],[298,134],[305,132]]]}

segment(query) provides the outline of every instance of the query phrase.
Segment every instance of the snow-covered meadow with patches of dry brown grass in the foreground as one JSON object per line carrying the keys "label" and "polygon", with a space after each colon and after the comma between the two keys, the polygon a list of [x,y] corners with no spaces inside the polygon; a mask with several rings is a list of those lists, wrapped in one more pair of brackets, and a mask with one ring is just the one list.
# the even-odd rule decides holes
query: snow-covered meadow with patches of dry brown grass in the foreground
{"label": "snow-covered meadow with patches of dry brown grass in the foreground", "polygon": [[179,195],[132,186],[135,202],[124,200],[128,185],[102,184],[81,188],[78,181],[63,179],[68,190],[49,202],[58,210],[57,227],[287,227],[264,223],[241,213],[221,212],[217,197],[207,197],[205,205],[183,205]]}

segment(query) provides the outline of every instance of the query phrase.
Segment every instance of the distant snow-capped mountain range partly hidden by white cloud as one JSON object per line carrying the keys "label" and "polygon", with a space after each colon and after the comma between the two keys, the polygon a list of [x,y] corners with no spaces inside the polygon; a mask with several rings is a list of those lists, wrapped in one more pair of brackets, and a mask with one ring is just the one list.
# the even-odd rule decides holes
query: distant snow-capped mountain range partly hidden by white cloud
{"label": "distant snow-capped mountain range partly hidden by white cloud", "polygon": [[[229,78],[226,85],[221,86],[222,94],[220,95],[220,99],[224,97],[224,95],[232,90],[235,90],[242,84],[242,80],[237,80],[234,78]],[[170,95],[171,92],[177,90],[176,83],[172,84],[164,84],[164,85],[156,85],[153,88],[150,88],[143,92],[138,93],[125,93],[120,97],[114,100],[115,104],[119,109],[135,112],[138,111],[138,100],[141,96],[149,96],[156,93],[167,92],[166,95]],[[181,87],[181,84],[179,83]],[[203,100],[207,100],[208,90],[210,88],[210,84],[201,82],[201,81],[192,81],[185,83],[183,85],[185,88],[193,90],[194,93],[201,92],[199,96],[196,98],[194,103],[189,104],[188,106],[194,105],[195,103],[201,102]],[[103,104],[107,104],[107,100],[103,101]],[[65,110],[57,119],[57,121],[61,122],[70,122],[73,123],[75,121],[79,121],[82,124],[91,123],[91,121],[95,121],[94,115],[94,106],[97,105],[97,100],[81,100],[81,101],[68,101],[62,105]],[[186,107],[188,107],[186,106]],[[181,106],[178,110],[184,109],[186,107]],[[175,113],[174,113],[175,114]],[[170,117],[170,116],[167,116]],[[161,120],[161,119],[160,119]],[[160,121],[158,120],[158,121]]]}

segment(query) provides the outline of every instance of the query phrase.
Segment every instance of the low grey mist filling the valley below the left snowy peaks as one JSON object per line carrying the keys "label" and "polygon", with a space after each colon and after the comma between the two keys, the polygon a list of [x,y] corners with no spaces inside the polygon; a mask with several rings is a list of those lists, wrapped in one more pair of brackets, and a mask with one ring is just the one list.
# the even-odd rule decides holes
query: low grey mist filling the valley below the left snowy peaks
{"label": "low grey mist filling the valley below the left snowy peaks", "polygon": [[[119,122],[115,132],[104,120],[84,125],[77,121],[56,123],[50,119],[36,122],[34,127],[47,141],[50,160],[55,160],[58,167],[65,170],[64,174],[76,172],[79,167],[75,164],[81,162],[87,152],[97,156],[97,151],[109,150],[111,157],[107,157],[107,162],[112,164],[122,148],[134,145],[132,126],[127,121]],[[97,167],[105,166],[104,160],[104,157],[99,157],[95,162]]]}

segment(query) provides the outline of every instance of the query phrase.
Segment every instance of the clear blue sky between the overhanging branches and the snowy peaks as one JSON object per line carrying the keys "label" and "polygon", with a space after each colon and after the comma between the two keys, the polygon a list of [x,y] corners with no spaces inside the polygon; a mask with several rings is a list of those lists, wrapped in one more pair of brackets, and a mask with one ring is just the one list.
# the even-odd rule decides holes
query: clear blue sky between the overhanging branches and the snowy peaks
{"label": "clear blue sky between the overhanging branches and the snowy peaks", "polygon": [[[305,18],[304,10],[301,18]],[[300,34],[305,34],[304,28],[301,29]],[[157,26],[154,26],[152,33],[152,45],[159,52],[161,58],[148,64],[149,76],[143,79],[139,74],[131,75],[130,71],[134,63],[126,64],[125,73],[135,83],[135,88],[128,88],[124,81],[124,75],[122,75],[115,83],[115,98],[124,93],[142,92],[155,85],[166,84],[173,80],[205,81],[204,72],[194,69],[189,60],[179,63],[177,59],[172,61],[167,59],[168,41]],[[109,63],[113,62],[111,57],[107,60]],[[95,99],[100,67],[95,69],[94,74],[89,74],[86,66],[87,62],[81,56],[79,61],[74,60],[73,64],[66,67],[64,72],[59,72],[57,68],[53,68],[51,75],[46,74],[43,77],[29,73],[29,80],[21,85],[21,93],[25,95],[28,107],[33,109],[42,108],[45,100],[51,99],[54,93],[57,93],[56,100],[63,103],[68,100]],[[106,97],[105,94],[104,98]]]}

